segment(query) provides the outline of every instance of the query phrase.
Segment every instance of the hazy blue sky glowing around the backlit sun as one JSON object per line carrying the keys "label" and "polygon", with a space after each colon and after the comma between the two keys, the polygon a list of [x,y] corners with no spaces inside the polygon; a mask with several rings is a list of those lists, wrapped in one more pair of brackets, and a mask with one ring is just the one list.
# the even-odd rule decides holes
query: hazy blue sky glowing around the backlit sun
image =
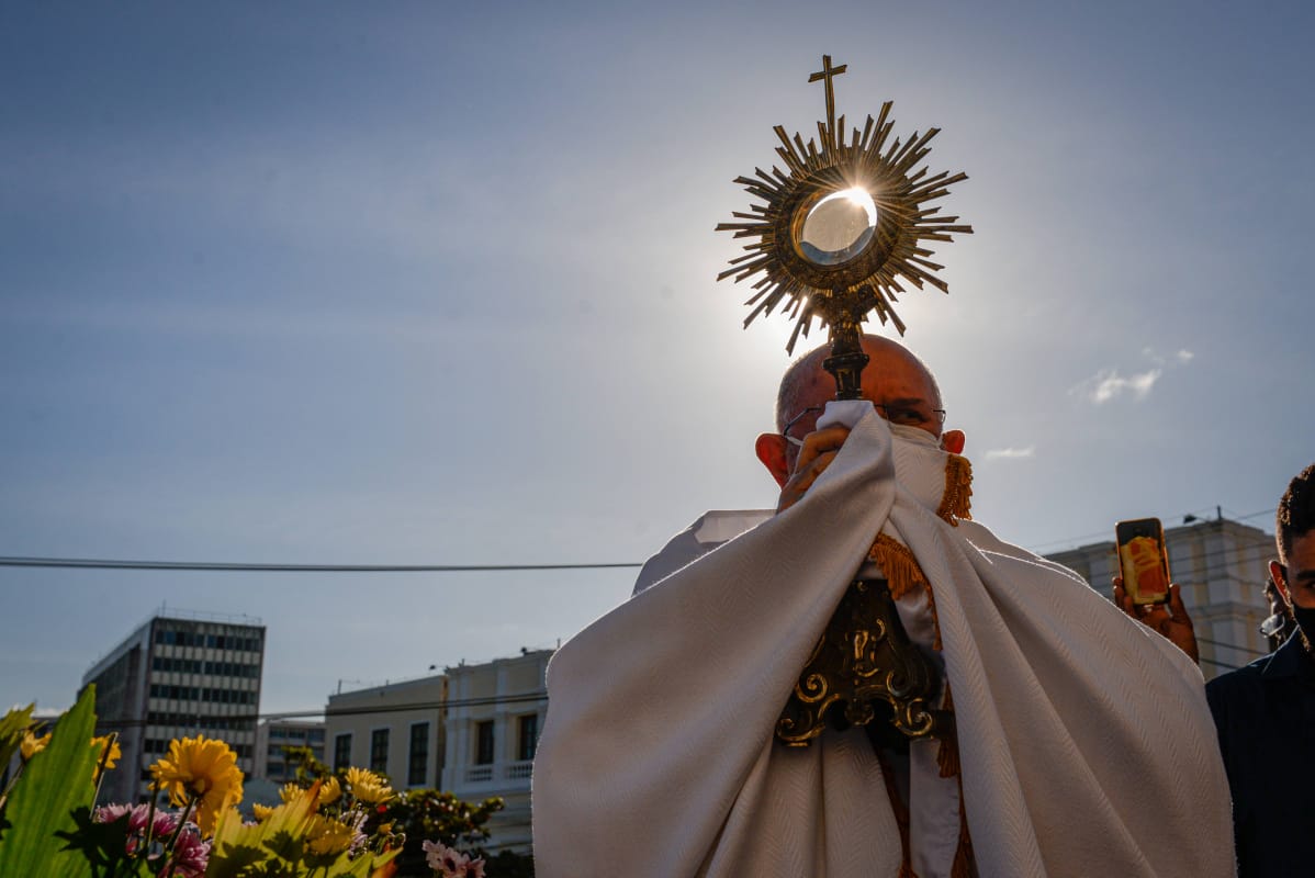
{"label": "hazy blue sky glowing around the backlit sun", "polygon": [[[1073,5],[1074,8],[1066,8]],[[807,16],[803,13],[807,12]],[[1306,4],[0,5],[0,555],[640,561],[752,456],[773,125],[942,127],[976,234],[906,343],[1030,548],[1315,459]],[[821,340],[821,339],[818,339]],[[0,568],[0,703],[67,706],[171,607],[268,626],[262,710],[552,645],[621,572]]]}

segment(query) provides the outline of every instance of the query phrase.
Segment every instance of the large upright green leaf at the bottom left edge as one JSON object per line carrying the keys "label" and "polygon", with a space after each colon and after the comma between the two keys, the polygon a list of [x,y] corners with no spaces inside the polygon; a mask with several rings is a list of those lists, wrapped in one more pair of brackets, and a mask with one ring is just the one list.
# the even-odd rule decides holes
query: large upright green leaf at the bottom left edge
{"label": "large upright green leaf at the bottom left edge", "polygon": [[91,804],[96,748],[91,744],[96,687],[88,686],[55,724],[46,749],[33,756],[9,794],[0,837],[0,875],[89,878],[91,864],[66,850],[57,832],[78,829],[74,810]]}

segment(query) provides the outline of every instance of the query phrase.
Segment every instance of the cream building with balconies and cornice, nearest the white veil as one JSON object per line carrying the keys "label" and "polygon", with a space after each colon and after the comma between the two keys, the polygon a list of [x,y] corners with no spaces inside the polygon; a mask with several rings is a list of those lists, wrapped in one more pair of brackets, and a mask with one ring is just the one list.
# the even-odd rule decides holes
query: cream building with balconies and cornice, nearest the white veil
{"label": "cream building with balconies and cornice, nearest the white veil", "polygon": [[548,710],[544,674],[552,649],[481,665],[447,668],[447,762],[444,790],[459,799],[501,797],[506,807],[489,820],[490,850],[526,852],[530,773]]}

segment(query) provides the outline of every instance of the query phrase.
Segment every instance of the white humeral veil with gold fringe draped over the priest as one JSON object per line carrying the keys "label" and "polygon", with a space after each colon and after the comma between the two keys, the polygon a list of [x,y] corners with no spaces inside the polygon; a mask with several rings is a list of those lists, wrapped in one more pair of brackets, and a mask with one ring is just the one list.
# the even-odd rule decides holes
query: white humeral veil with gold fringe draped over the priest
{"label": "white humeral veil with gold fringe draped over the priest", "polygon": [[894,878],[899,831],[865,733],[773,741],[885,534],[931,585],[976,874],[1232,875],[1201,672],[1076,573],[939,518],[945,452],[857,410],[802,501],[739,534],[705,515],[646,565],[660,581],[554,656],[537,874]]}

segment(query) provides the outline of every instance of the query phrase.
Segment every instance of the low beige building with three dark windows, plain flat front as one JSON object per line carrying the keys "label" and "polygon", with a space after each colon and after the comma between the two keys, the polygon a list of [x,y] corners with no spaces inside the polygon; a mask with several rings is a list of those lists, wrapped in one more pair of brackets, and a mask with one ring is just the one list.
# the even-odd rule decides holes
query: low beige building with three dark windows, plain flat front
{"label": "low beige building with three dark windows, plain flat front", "polygon": [[398,790],[437,787],[446,701],[443,674],[330,695],[325,707],[329,768],[367,768],[387,775]]}

